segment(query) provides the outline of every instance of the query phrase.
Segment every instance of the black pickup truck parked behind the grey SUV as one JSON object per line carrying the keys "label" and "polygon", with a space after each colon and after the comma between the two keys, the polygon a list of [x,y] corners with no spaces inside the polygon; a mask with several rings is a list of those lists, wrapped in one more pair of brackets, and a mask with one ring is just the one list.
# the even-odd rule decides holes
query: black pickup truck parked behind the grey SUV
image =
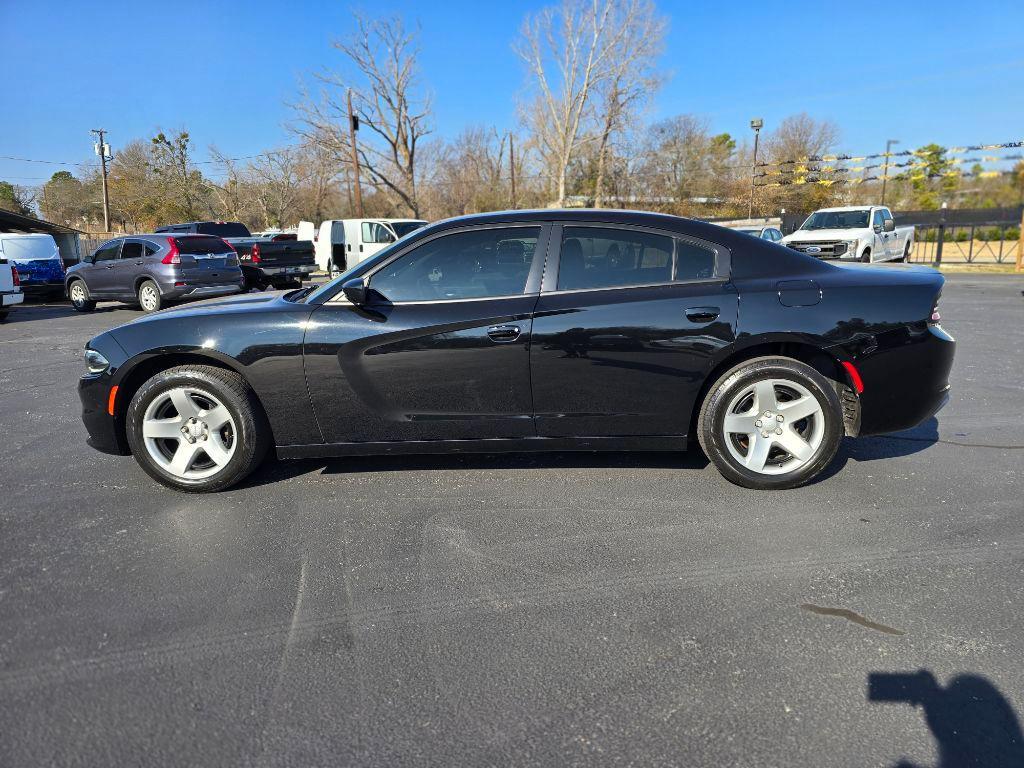
{"label": "black pickup truck parked behind the grey SUV", "polygon": [[239,254],[246,291],[298,288],[316,270],[313,244],[309,241],[278,241],[253,237],[238,221],[189,221],[157,227],[158,232],[213,234],[226,241]]}

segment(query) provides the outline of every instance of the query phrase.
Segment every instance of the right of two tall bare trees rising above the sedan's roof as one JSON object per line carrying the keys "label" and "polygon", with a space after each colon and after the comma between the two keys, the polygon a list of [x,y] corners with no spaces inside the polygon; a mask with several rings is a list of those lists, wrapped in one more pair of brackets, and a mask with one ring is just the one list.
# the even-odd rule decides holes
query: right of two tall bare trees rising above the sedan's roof
{"label": "right of two tall bare trees rising above the sedan's roof", "polygon": [[663,81],[654,70],[665,42],[667,23],[649,0],[609,3],[608,24],[612,34],[607,45],[608,72],[596,84],[599,133],[594,207],[604,202],[605,172],[612,136],[626,130],[630,118],[653,94]]}

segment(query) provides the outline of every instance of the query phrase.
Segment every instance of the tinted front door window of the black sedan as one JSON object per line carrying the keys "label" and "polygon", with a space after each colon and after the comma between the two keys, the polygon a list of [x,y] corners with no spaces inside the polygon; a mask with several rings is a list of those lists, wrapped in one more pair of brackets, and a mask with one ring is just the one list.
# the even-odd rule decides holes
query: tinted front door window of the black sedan
{"label": "tinted front door window of the black sedan", "polygon": [[540,233],[523,226],[443,236],[385,266],[370,287],[392,302],[521,294]]}

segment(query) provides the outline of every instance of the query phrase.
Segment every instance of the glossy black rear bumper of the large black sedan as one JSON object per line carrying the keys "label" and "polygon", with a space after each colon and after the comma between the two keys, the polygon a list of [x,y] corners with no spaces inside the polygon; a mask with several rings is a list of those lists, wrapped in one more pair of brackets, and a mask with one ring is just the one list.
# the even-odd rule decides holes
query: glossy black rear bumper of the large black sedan
{"label": "glossy black rear bumper of the large black sedan", "polygon": [[878,351],[854,360],[864,381],[861,435],[915,427],[949,400],[956,342],[941,327],[898,329],[880,335],[878,342]]}

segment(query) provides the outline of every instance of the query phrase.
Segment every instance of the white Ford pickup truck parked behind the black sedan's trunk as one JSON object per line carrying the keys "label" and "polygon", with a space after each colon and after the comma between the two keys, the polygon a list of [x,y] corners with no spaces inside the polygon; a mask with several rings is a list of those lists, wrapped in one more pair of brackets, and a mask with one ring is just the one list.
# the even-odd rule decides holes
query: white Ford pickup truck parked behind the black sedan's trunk
{"label": "white Ford pickup truck parked behind the black sedan's trunk", "polygon": [[913,227],[896,226],[885,206],[849,206],[815,211],[782,245],[822,259],[906,261]]}

